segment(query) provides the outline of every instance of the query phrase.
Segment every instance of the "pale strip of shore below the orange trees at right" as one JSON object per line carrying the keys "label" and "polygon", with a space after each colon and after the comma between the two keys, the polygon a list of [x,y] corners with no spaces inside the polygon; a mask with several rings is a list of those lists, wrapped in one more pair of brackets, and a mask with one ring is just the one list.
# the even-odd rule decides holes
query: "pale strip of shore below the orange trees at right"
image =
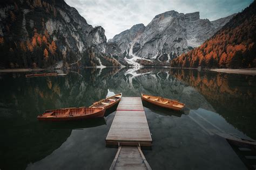
{"label": "pale strip of shore below the orange trees at right", "polygon": [[209,70],[213,72],[219,72],[219,73],[256,75],[256,68],[240,68],[240,69],[217,68],[217,69],[209,69]]}

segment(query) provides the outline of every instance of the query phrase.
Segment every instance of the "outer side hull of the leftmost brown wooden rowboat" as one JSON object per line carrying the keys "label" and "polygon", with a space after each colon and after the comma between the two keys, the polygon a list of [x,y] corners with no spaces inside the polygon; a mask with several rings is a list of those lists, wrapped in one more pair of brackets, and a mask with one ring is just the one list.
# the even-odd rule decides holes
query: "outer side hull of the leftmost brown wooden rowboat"
{"label": "outer side hull of the leftmost brown wooden rowboat", "polygon": [[51,121],[51,122],[57,122],[57,121],[77,121],[82,119],[90,119],[90,118],[98,118],[103,117],[105,114],[105,109],[102,109],[96,113],[93,114],[87,114],[87,115],[76,115],[76,116],[37,116],[38,121]]}

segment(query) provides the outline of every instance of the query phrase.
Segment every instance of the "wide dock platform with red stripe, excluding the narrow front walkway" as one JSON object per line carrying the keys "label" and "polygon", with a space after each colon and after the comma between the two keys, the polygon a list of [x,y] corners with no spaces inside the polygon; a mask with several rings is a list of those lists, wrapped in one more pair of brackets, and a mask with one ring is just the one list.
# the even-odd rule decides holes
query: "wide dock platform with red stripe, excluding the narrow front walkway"
{"label": "wide dock platform with red stripe, excluding the narrow front walkway", "polygon": [[106,144],[151,146],[151,133],[140,97],[122,97]]}

